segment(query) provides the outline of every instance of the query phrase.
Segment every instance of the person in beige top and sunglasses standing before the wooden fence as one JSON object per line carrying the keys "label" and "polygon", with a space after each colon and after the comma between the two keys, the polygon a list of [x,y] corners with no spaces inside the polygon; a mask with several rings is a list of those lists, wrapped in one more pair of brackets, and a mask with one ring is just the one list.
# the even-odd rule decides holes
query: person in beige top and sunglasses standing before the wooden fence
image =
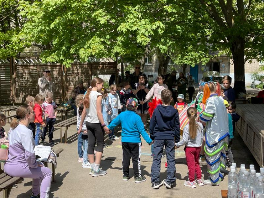
{"label": "person in beige top and sunglasses standing before the wooden fence", "polygon": [[38,80],[39,94],[46,97],[47,92],[55,93],[56,85],[52,82],[50,71],[45,68],[43,70],[43,77]]}

